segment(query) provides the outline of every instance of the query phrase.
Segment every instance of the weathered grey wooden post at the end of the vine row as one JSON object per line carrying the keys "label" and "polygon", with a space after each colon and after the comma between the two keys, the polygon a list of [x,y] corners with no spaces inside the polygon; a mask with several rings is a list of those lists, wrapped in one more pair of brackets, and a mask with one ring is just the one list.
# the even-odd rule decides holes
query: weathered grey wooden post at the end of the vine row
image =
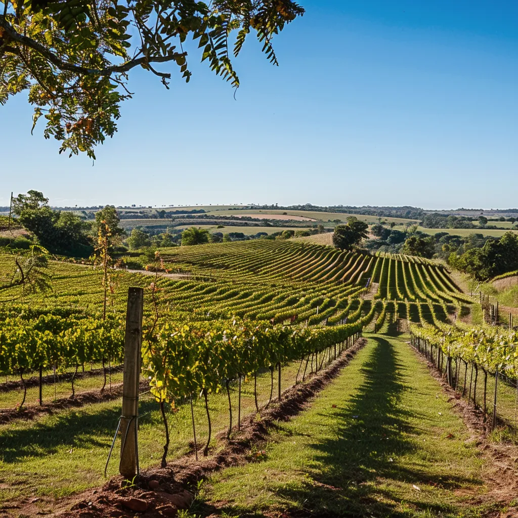
{"label": "weathered grey wooden post at the end of the vine row", "polygon": [[121,459],[119,472],[127,480],[138,474],[138,388],[140,384],[140,349],[142,346],[142,311],[144,290],[130,287],[124,336],[124,377],[122,387]]}

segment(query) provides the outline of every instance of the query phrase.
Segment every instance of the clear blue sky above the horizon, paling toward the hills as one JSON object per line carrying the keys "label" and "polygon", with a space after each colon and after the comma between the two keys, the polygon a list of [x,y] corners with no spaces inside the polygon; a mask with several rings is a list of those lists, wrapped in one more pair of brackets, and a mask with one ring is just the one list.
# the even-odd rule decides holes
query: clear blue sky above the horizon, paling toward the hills
{"label": "clear blue sky above the horizon, paling toward the hills", "polygon": [[198,55],[185,84],[135,70],[119,132],[60,156],[26,95],[0,107],[0,205],[313,203],[518,206],[518,3],[300,0],[275,42],[250,39],[241,88]]}

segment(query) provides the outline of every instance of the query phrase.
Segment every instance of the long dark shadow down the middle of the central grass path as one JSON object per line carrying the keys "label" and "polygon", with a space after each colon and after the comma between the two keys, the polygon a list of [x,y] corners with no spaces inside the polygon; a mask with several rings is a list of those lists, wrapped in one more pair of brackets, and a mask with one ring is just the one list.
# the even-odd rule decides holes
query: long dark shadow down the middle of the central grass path
{"label": "long dark shadow down the middle of the central grass path", "polygon": [[[412,494],[412,484],[437,484],[443,488],[459,487],[473,481],[456,478],[448,472],[430,474],[400,466],[397,457],[412,455],[414,445],[404,433],[418,433],[409,425],[410,418],[426,420],[426,415],[412,411],[411,415],[398,405],[402,392],[408,385],[402,379],[404,367],[397,363],[392,344],[382,337],[373,337],[377,347],[373,349],[361,369],[363,383],[347,402],[346,408],[334,410],[334,428],[338,439],[310,444],[314,450],[307,469],[309,478],[296,488],[274,486],[277,500],[297,502],[296,509],[287,516],[365,516],[386,517],[455,514],[448,503],[436,500],[421,502]],[[329,415],[322,413],[322,422]],[[334,434],[333,434],[334,435]],[[324,469],[322,469],[324,468]],[[258,467],[258,469],[261,469]],[[309,480],[308,480],[309,479]],[[389,483],[405,483],[409,492],[405,501],[414,511],[396,510],[398,497],[387,485],[376,482],[387,479]],[[266,516],[261,512],[231,506],[215,509],[200,505],[203,515],[227,512],[239,516]],[[286,509],[290,511],[290,509]]]}

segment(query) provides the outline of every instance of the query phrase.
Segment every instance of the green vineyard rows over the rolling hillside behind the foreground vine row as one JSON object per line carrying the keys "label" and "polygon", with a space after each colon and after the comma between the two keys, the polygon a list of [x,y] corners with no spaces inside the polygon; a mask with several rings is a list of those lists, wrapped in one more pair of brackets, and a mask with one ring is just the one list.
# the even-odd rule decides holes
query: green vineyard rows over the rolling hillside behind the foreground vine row
{"label": "green vineyard rows over the rolling hillside behind the foreground vine row", "polygon": [[[163,249],[161,260],[165,269],[189,271],[191,276],[159,274],[153,279],[160,306],[156,323],[149,276],[118,273],[110,318],[103,322],[98,313],[99,270],[54,262],[50,298],[31,296],[30,309],[4,305],[0,372],[23,376],[42,365],[74,369],[88,362],[120,361],[121,317],[130,284],[147,288],[146,325],[155,329],[186,323],[191,329],[206,329],[215,320],[244,319],[256,322],[257,329],[266,321],[270,326],[317,326],[319,333],[325,326],[349,324],[350,330],[337,329],[349,336],[367,325],[380,329],[386,315],[441,325],[469,303],[447,270],[429,261],[341,252],[311,242],[264,240]],[[3,269],[10,263],[4,256]],[[12,290],[3,296],[8,299]]]}

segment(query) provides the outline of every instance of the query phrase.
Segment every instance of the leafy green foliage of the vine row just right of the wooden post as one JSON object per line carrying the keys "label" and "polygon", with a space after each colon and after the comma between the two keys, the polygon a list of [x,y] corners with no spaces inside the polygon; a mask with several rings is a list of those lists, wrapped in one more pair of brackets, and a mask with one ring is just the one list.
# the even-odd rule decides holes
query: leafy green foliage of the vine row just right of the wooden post
{"label": "leafy green foliage of the vine row just right of the wooden post", "polygon": [[143,356],[151,392],[159,401],[204,390],[225,379],[320,353],[361,332],[364,321],[333,327],[271,326],[232,321],[165,324]]}

